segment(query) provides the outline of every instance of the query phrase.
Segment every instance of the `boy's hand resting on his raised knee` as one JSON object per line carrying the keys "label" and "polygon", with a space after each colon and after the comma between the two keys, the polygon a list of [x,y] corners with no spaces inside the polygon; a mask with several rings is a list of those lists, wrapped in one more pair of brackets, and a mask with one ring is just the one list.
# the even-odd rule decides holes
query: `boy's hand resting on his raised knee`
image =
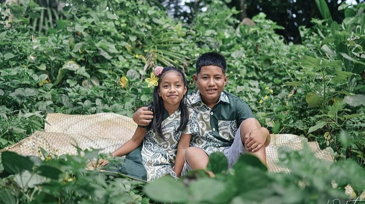
{"label": "boy's hand resting on his raised knee", "polygon": [[246,149],[254,153],[260,148],[268,145],[268,143],[270,142],[268,138],[270,138],[270,133],[266,128],[261,127],[252,130],[245,136]]}

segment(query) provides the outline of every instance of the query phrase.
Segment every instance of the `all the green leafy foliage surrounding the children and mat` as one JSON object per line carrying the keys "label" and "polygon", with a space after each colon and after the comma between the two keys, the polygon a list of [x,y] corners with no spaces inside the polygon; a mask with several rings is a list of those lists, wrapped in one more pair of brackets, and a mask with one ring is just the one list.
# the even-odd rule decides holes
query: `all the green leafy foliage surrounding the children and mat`
{"label": "all the green leafy foliage surrounding the children and mat", "polygon": [[320,15],[299,27],[300,40],[292,43],[264,13],[252,18],[254,25],[240,24],[230,1],[203,2],[186,19],[154,0],[1,3],[0,149],[42,130],[47,113],[131,117],[151,100],[144,79],[153,67],[175,66],[192,76],[201,53],[218,51],[227,60],[226,90],[247,102],[263,126],[331,147],[337,162],[318,161],[305,148],[282,152],[291,174],[267,172],[250,156],[226,174],[218,154],[209,166],[216,178],[196,172],[145,188],[84,170],[97,151],[44,153],[44,161],[2,153],[0,203],[327,203],[349,200],[348,184],[352,198],[359,196],[365,189],[365,4],[341,3],[336,15],[343,17],[335,21],[329,3],[314,0]]}

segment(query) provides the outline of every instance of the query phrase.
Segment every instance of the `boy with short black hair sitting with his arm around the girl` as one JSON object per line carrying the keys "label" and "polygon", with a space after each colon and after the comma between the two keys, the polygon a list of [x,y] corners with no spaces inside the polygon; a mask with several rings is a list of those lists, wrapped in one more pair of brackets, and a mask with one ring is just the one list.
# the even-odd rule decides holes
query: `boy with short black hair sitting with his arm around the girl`
{"label": "boy with short black hair sitting with his arm around the girl", "polygon": [[[187,170],[205,169],[210,153],[222,152],[232,167],[240,154],[249,152],[266,164],[265,146],[269,131],[261,127],[250,107],[237,96],[223,91],[228,76],[226,61],[215,52],[202,54],[196,63],[193,79],[199,91],[188,96],[188,103],[197,111],[199,134],[192,136],[185,151]],[[139,125],[148,124],[153,112],[142,107],[133,115]]]}

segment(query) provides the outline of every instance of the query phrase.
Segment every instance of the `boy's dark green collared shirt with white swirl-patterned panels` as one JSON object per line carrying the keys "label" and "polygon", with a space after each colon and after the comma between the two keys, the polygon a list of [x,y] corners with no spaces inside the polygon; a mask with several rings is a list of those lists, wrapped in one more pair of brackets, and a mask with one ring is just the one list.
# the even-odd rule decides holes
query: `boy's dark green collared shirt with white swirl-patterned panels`
{"label": "boy's dark green collared shirt with white swirl-patterned panels", "polygon": [[199,91],[188,95],[188,103],[194,108],[199,124],[198,134],[192,135],[190,145],[200,147],[208,154],[222,152],[231,146],[241,122],[254,118],[247,103],[225,91],[212,109],[201,101]]}

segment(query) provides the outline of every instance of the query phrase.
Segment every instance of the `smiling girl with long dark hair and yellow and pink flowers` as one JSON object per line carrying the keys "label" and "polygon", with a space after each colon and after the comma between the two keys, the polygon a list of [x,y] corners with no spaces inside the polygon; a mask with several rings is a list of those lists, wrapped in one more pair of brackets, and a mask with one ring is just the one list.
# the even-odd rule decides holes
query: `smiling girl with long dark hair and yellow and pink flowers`
{"label": "smiling girl with long dark hair and yellow and pink flowers", "polygon": [[[174,67],[157,67],[154,72],[151,78],[146,79],[148,86],[155,86],[153,102],[149,105],[154,112],[152,122],[146,127],[138,126],[132,138],[112,153],[113,156],[124,156],[143,142],[141,155],[146,181],[166,174],[175,178],[180,175],[185,163],[184,151],[189,147],[192,134],[190,129],[195,126],[190,125],[193,121],[189,121],[186,107],[187,81],[184,73]],[[102,165],[106,163],[104,161]]]}

